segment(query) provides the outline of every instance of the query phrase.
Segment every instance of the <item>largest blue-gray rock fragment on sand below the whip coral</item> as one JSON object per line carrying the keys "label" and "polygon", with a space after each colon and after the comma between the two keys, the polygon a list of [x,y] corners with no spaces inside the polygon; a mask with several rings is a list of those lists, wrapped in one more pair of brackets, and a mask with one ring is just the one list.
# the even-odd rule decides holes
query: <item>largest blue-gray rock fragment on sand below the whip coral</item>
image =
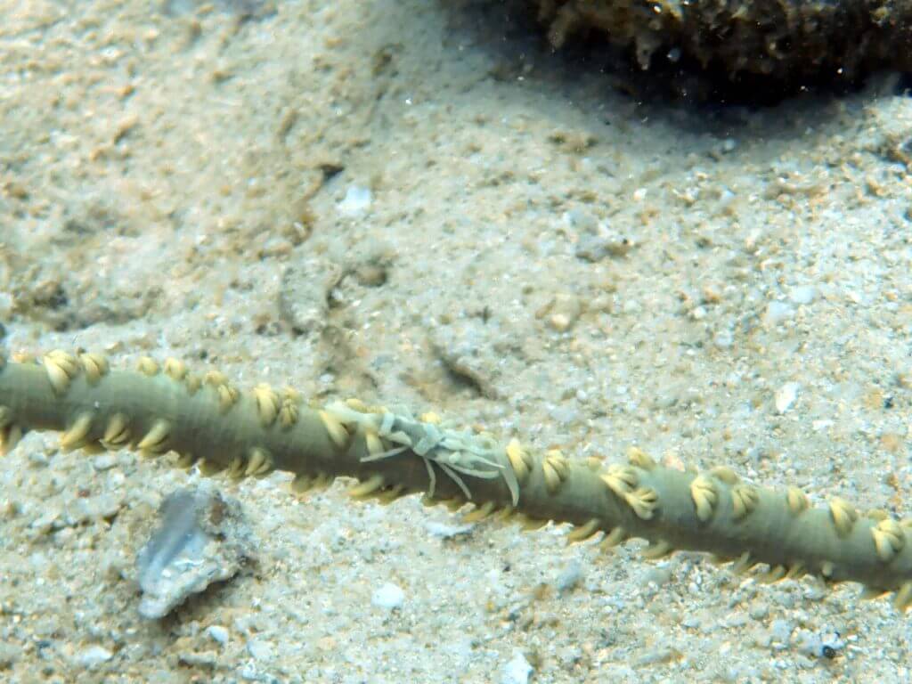
{"label": "largest blue-gray rock fragment on sand below the whip coral", "polygon": [[232,578],[254,557],[241,504],[212,486],[172,492],[161,503],[161,526],[137,558],[140,615],[168,615],[192,594]]}

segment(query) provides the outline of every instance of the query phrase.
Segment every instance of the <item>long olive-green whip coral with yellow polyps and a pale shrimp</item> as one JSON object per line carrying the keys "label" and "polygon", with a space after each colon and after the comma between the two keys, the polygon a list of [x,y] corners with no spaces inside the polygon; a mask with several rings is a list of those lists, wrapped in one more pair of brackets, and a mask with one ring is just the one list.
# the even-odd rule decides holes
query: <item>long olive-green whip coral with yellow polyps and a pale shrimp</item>
{"label": "long olive-green whip coral with yellow polyps and a pale shrimp", "polygon": [[65,451],[174,452],[177,465],[204,474],[291,472],[295,492],[347,476],[359,481],[357,498],[425,492],[454,508],[474,503],[469,520],[571,523],[573,541],[638,537],[648,540],[649,558],[702,551],[739,572],[765,564],[768,581],[855,581],[868,594],[895,593],[899,609],[912,605],[912,522],[861,515],[838,498],[814,508],[794,487],[742,482],[725,466],[682,472],[638,450],[612,465],[534,454],[433,414],[415,418],[357,400],[307,406],[294,390],[242,393],[223,374],[196,375],[175,359],[111,370],[101,356],[61,351],[0,368],[0,453],[28,430],[61,431]]}

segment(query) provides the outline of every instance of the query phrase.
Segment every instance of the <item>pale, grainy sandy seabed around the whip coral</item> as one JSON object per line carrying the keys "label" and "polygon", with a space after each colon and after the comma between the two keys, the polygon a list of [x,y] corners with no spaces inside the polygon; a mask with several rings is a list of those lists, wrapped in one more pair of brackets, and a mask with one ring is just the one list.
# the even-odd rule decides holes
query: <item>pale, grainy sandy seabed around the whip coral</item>
{"label": "pale, grainy sandy seabed around the whip coral", "polygon": [[[912,98],[888,78],[643,104],[486,3],[0,16],[7,349],[174,356],[909,514]],[[136,554],[199,477],[43,433],[2,461],[0,679],[912,677],[912,623],[857,586],[342,484],[296,499],[282,474],[223,483],[256,565],[143,619]]]}

